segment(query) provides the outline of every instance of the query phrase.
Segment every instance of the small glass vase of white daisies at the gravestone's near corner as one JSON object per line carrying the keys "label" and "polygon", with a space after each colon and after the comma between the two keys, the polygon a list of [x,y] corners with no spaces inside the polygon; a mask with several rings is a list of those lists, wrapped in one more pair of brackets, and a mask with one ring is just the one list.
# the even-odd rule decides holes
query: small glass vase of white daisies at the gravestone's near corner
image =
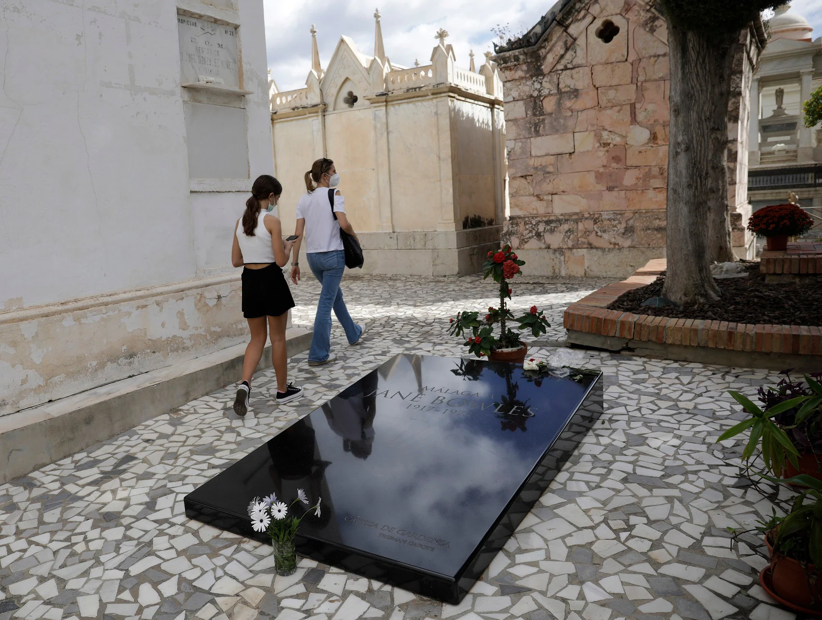
{"label": "small glass vase of white daisies at the gravestone's near corner", "polygon": [[266,532],[270,536],[271,544],[274,547],[274,566],[278,575],[289,576],[297,570],[297,551],[294,549],[294,537],[302,519],[313,510],[316,517],[320,516],[320,503],[322,498],[316,500],[316,506],[307,508],[302,513],[302,517],[296,517],[293,512],[289,514],[289,508],[295,503],[302,502],[308,505],[308,496],[302,489],[297,489],[297,499],[291,505],[279,502],[275,494],[270,494],[265,498],[254,498],[248,504],[248,517],[252,520],[254,531]]}

